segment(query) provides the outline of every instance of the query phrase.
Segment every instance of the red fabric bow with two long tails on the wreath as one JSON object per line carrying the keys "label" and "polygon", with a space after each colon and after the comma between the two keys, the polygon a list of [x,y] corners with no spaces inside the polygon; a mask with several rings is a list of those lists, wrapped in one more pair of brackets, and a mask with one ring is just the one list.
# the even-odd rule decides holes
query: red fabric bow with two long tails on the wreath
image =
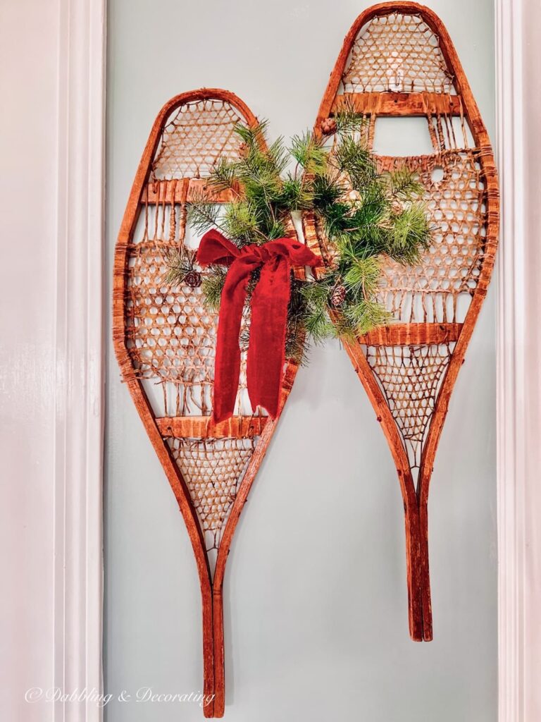
{"label": "red fabric bow with two long tails on the wreath", "polygon": [[221,292],[216,339],[214,420],[223,421],[234,412],[239,386],[242,309],[252,271],[258,268],[260,279],[251,299],[247,388],[252,408],[263,406],[276,418],[285,362],[291,265],[319,266],[321,261],[298,240],[278,238],[264,245],[237,248],[217,230],[203,235],[197,260],[201,266],[230,266]]}

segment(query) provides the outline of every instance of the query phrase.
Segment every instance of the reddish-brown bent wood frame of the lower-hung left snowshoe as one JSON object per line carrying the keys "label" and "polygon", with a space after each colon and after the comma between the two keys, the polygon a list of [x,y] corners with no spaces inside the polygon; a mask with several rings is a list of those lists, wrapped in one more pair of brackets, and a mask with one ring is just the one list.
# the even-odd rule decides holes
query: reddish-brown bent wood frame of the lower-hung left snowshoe
{"label": "reddish-brown bent wood frame of the lower-hung left snowshoe", "polygon": [[[176,97],[173,97],[172,100],[166,103],[162,110],[160,110],[156,121],[154,121],[154,125],[152,126],[149,139],[146,142],[141,162],[138,165],[115,248],[115,262],[113,268],[113,344],[115,347],[115,354],[120,365],[120,370],[123,375],[123,380],[128,386],[133,403],[136,405],[138,414],[141,417],[146,432],[149,435],[152,445],[154,446],[154,451],[156,451],[159,461],[167,474],[167,479],[169,480],[172,491],[175,494],[182,517],[185,521],[186,529],[188,530],[188,535],[190,536],[201,585],[203,614],[203,693],[208,697],[214,695],[214,699],[211,703],[206,705],[203,709],[206,717],[221,717],[224,714],[225,705],[222,590],[224,585],[226,560],[242,507],[247,500],[255,475],[258,473],[258,469],[263,461],[263,457],[265,456],[268,444],[271,440],[276,424],[278,423],[283,406],[286,403],[289,392],[291,391],[298,367],[294,363],[288,362],[286,372],[283,377],[281,400],[276,419],[265,419],[264,424],[260,422],[260,439],[255,447],[255,451],[250,459],[249,465],[247,466],[245,476],[242,479],[237,496],[235,497],[234,503],[232,504],[232,508],[229,512],[229,517],[227,518],[216,556],[216,567],[214,570],[213,580],[211,576],[211,569],[208,564],[208,557],[206,554],[201,526],[197,518],[197,513],[193,507],[193,503],[190,499],[190,492],[188,491],[188,487],[185,480],[182,478],[182,474],[180,473],[174,458],[172,458],[169,446],[164,441],[164,436],[171,435],[171,429],[167,428],[167,419],[157,419],[155,416],[149,399],[144,391],[143,384],[134,374],[131,357],[126,347],[126,282],[128,277],[128,247],[133,238],[133,232],[135,231],[138,214],[141,209],[141,199],[145,193],[146,182],[149,178],[151,161],[157,150],[164,126],[171,113],[185,103],[207,99],[223,100],[226,103],[230,103],[234,108],[239,110],[239,113],[244,116],[245,121],[249,125],[255,125],[255,123],[257,123],[257,119],[250,108],[248,108],[247,105],[239,99],[239,97],[234,95],[232,92],[216,88],[203,88],[201,90],[184,92]],[[233,425],[234,420],[235,419],[233,419]],[[182,430],[185,430],[185,433],[188,434],[188,419],[186,417],[182,420],[175,419],[175,423],[172,425],[182,427]],[[227,424],[221,425],[223,428],[220,429],[214,427],[210,431],[209,428],[212,425],[210,424],[209,427],[207,427],[206,423],[202,422],[201,417],[196,417],[194,419],[194,425],[196,427],[194,427],[194,429],[197,431],[198,436],[204,435],[201,433],[204,431],[214,433],[214,435],[216,435],[216,432],[219,432],[222,436],[229,435],[229,432],[232,432],[232,428],[229,428],[229,426],[232,426],[231,424],[229,426]],[[245,426],[245,420],[240,419],[240,427],[242,428]],[[192,430],[192,435],[193,431],[194,430]],[[238,436],[238,434],[233,435]]]}

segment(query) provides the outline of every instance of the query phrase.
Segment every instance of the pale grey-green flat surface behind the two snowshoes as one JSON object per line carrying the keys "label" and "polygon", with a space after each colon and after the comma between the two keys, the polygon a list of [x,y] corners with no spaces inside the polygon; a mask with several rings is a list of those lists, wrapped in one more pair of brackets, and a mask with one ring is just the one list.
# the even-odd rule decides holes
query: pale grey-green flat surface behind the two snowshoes
{"label": "pale grey-green flat surface behind the two snowshoes", "polygon": [[[159,108],[237,92],[271,134],[311,126],[367,3],[110,0],[107,243]],[[493,136],[491,0],[432,0]],[[110,290],[109,290],[110,293]],[[109,341],[105,687],[201,690],[193,552]],[[496,722],[493,289],[449,409],[430,497],[435,640],[408,638],[403,508],[374,412],[338,344],[302,369],[226,573],[230,722]],[[195,705],[110,703],[107,722],[190,722]]]}

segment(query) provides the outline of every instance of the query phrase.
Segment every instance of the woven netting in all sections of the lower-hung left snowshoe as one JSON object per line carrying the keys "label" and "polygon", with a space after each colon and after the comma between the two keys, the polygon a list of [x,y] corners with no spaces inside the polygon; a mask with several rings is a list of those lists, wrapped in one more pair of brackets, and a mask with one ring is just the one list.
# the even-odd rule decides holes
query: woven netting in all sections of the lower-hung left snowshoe
{"label": "woven netting in all sections of the lower-hung left snowshoe", "polygon": [[[192,253],[185,200],[171,204],[182,179],[204,178],[220,157],[238,157],[233,133],[242,121],[223,100],[182,105],[167,121],[128,247],[126,347],[156,417],[208,417],[212,412],[218,315],[203,303],[201,287],[172,285],[165,277],[172,253]],[[202,269],[193,264],[193,270]],[[247,329],[247,319],[243,333]],[[236,413],[245,412],[246,355],[242,353]],[[258,438],[167,438],[198,513],[208,549],[217,549],[238,484]]]}

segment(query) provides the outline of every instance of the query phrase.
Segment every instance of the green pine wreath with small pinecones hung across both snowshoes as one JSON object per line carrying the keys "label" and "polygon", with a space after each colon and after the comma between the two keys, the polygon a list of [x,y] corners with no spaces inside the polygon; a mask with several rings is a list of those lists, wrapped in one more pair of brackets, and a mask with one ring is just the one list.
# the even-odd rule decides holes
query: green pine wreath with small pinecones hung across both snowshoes
{"label": "green pine wreath with small pinecones hung across both snowshoes", "polygon": [[[268,144],[266,122],[237,125],[241,157],[219,160],[208,178],[210,190],[188,206],[195,232],[217,228],[239,247],[291,235],[292,215],[315,214],[335,253],[317,278],[301,281],[291,274],[286,357],[296,362],[304,360],[309,339],[356,337],[388,323],[390,314],[376,300],[382,258],[416,264],[430,241],[423,186],[408,170],[378,172],[363,123],[346,108],[333,123],[332,147],[325,136],[307,132],[294,136],[289,148],[281,137]],[[294,170],[288,170],[292,161]],[[217,204],[216,192],[228,189],[234,200]],[[175,253],[167,282],[184,282],[193,264],[193,254]],[[226,273],[223,266],[203,271],[203,295],[213,309],[219,308]],[[255,271],[252,287],[257,281]]]}

